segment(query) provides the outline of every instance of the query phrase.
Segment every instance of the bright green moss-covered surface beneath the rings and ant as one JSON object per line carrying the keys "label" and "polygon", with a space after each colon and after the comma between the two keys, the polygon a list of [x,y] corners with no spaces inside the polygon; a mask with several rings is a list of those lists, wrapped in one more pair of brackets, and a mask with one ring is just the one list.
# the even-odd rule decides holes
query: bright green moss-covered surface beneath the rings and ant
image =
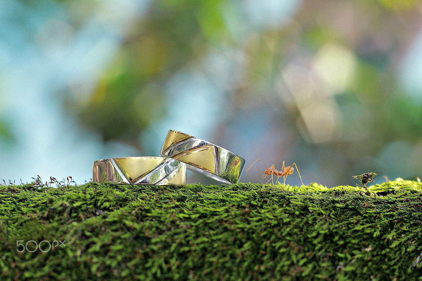
{"label": "bright green moss-covered surface beneath the rings and ant", "polygon": [[0,280],[422,280],[422,184],[368,189],[0,186]]}

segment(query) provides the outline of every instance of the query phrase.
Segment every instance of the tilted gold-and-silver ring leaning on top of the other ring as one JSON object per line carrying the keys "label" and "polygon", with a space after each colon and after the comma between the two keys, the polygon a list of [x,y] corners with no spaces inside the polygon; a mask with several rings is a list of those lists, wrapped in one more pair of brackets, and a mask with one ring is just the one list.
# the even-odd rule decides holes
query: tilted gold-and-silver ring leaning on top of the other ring
{"label": "tilted gold-and-silver ring leaning on top of the other ring", "polygon": [[189,164],[188,169],[225,184],[237,184],[245,165],[239,155],[175,130],[168,131],[160,155]]}

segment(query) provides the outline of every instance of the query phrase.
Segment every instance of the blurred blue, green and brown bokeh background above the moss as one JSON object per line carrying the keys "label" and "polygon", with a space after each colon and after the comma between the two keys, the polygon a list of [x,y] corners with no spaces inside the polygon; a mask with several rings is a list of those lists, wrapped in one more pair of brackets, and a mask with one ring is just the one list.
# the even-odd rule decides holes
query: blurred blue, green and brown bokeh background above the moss
{"label": "blurred blue, green and brown bokeh background above the moss", "polygon": [[[2,0],[0,179],[92,177],[169,129],[331,187],[422,177],[417,0]],[[214,183],[189,174],[189,181]],[[300,184],[295,172],[287,183]]]}

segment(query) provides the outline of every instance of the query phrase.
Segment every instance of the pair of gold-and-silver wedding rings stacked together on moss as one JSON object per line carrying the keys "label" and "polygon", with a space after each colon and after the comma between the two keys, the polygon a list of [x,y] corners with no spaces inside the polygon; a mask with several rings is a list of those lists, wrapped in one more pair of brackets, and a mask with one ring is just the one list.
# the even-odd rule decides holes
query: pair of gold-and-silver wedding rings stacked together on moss
{"label": "pair of gold-and-silver wedding rings stacked together on moss", "polygon": [[245,164],[245,159],[227,149],[175,130],[168,131],[160,155],[97,160],[92,165],[92,181],[184,186],[189,168],[236,184]]}

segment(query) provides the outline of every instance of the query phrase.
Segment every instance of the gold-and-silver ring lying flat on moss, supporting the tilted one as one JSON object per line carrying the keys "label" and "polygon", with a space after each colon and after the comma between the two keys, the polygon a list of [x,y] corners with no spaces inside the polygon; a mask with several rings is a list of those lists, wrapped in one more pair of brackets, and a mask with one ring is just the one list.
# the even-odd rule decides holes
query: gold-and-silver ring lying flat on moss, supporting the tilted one
{"label": "gold-and-silver ring lying flat on moss, supporting the tilted one", "polygon": [[186,165],[165,157],[101,159],[92,164],[92,181],[184,186]]}

